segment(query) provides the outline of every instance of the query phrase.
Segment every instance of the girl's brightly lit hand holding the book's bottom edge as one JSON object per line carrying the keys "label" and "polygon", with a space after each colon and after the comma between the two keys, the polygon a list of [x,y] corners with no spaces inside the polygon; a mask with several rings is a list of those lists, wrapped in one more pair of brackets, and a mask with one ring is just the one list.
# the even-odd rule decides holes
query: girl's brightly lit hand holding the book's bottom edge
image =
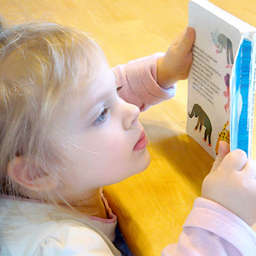
{"label": "girl's brightly lit hand holding the book's bottom edge", "polygon": [[212,171],[202,184],[202,197],[216,201],[234,212],[249,226],[256,222],[256,161],[228,143],[220,142]]}

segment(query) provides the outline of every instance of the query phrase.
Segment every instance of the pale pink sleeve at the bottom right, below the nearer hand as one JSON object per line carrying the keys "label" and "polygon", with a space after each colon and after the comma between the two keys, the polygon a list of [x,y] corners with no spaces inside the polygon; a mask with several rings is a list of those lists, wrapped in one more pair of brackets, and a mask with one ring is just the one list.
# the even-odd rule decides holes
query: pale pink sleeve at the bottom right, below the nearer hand
{"label": "pale pink sleeve at the bottom right, below the nearer hand", "polygon": [[256,255],[256,235],[233,212],[200,197],[194,202],[178,243],[162,251],[162,256],[167,255]]}

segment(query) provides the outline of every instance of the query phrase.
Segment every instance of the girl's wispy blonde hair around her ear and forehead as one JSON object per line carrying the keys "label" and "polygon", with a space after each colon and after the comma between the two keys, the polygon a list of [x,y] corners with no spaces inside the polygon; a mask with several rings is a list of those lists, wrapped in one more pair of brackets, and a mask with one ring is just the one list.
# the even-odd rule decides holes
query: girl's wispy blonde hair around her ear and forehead
{"label": "girl's wispy blonde hair around her ear and forehead", "polygon": [[[78,86],[81,73],[90,84],[102,61],[106,61],[102,49],[84,32],[67,26],[32,22],[1,28],[0,193],[20,195],[20,185],[7,173],[9,160],[16,156],[29,156],[31,177],[37,166],[58,180],[65,166],[51,143],[57,136],[52,129],[54,115],[70,86]],[[49,195],[49,201],[55,200]]]}

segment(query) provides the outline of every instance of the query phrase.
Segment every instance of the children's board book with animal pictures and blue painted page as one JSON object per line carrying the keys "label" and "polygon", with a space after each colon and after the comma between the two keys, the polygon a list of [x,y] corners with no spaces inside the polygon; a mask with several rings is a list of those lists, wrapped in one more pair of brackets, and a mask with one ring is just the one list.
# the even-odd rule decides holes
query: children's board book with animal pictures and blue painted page
{"label": "children's board book with animal pictures and blue painted page", "polygon": [[[215,159],[220,140],[251,156],[256,28],[207,0],[189,2],[195,29],[187,132]],[[253,39],[254,38],[254,39]]]}

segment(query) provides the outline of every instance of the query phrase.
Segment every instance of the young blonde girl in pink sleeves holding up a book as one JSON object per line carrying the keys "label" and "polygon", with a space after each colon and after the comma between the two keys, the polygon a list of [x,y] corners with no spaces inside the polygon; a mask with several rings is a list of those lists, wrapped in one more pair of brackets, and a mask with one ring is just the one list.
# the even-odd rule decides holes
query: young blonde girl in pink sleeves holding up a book
{"label": "young blonde girl in pink sleeves holding up a book", "polygon": [[[49,23],[2,28],[0,255],[121,255],[101,188],[147,168],[138,115],[174,96],[194,39],[188,27],[166,55],[111,70],[83,32]],[[255,172],[254,160],[221,144],[204,198],[163,255],[255,255]]]}

